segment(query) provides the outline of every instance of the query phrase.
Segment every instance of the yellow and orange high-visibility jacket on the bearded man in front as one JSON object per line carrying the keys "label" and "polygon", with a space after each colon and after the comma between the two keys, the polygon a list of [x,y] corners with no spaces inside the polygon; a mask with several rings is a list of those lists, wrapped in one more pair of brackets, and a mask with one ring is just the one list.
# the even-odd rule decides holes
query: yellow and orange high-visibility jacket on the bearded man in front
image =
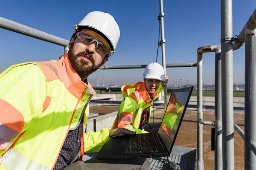
{"label": "yellow and orange high-visibility jacket on the bearded man in front", "polygon": [[[0,74],[0,170],[51,170],[69,130],[87,123],[91,87],[65,54],[12,65]],[[84,119],[80,120],[84,114]],[[84,128],[83,128],[84,131]],[[109,128],[82,133],[81,158],[97,152]],[[81,159],[80,158],[80,159]]]}

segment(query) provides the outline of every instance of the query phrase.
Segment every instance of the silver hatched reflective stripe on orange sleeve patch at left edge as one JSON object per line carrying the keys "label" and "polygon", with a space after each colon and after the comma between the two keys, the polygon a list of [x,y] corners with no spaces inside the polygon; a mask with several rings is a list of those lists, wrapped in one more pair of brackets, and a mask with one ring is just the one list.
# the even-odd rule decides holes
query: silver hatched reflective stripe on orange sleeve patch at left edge
{"label": "silver hatched reflective stripe on orange sleeve patch at left edge", "polygon": [[18,132],[0,123],[0,146],[9,148],[17,137]]}

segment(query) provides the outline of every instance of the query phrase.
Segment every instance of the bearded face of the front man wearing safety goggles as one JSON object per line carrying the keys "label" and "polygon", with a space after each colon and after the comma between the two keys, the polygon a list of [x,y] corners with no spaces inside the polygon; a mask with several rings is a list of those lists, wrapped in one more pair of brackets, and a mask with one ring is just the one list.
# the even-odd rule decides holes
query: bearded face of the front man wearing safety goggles
{"label": "bearded face of the front man wearing safety goggles", "polygon": [[76,35],[77,37],[70,39],[68,58],[73,69],[84,80],[108,61],[106,56],[110,46],[101,35],[92,30],[84,29]]}

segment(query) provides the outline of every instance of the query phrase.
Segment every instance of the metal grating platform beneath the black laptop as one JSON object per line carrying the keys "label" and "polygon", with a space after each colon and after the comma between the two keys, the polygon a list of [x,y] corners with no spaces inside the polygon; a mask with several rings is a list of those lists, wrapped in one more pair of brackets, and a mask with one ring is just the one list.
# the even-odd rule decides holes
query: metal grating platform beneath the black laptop
{"label": "metal grating platform beneath the black laptop", "polygon": [[[86,153],[82,161],[86,161],[96,156],[97,153]],[[196,170],[196,149],[190,147],[174,146],[170,156],[171,163],[167,157],[149,158],[150,170]],[[171,167],[175,167],[176,169]]]}

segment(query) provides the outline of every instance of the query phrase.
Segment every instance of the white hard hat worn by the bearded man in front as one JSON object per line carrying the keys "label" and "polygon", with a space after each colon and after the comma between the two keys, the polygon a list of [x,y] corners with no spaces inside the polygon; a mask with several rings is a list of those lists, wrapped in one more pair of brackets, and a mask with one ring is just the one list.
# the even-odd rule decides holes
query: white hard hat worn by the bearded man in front
{"label": "white hard hat worn by the bearded man in front", "polygon": [[90,29],[102,35],[111,47],[111,54],[115,52],[116,44],[120,37],[120,30],[111,14],[101,11],[90,12],[75,25],[75,33],[81,29]]}

